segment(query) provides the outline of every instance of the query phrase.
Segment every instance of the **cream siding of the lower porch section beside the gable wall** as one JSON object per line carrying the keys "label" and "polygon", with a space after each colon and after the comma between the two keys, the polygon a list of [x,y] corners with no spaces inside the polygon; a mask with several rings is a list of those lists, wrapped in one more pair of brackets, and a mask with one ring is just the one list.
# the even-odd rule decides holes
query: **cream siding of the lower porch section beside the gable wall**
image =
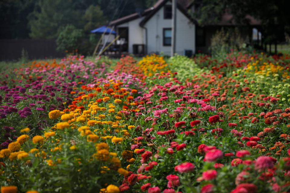
{"label": "cream siding of the lower porch section beside the gable wall", "polygon": [[139,23],[144,17],[126,22],[124,24],[118,25],[118,27],[128,27],[128,50],[133,53],[134,44],[145,44],[143,36],[143,28],[140,27]]}

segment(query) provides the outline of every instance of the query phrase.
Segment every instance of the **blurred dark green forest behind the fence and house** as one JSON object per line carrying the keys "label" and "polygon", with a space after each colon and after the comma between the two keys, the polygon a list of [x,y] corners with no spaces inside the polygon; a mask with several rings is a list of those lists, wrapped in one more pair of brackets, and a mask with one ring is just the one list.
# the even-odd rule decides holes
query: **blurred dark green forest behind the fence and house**
{"label": "blurred dark green forest behind the fence and house", "polygon": [[1,0],[1,39],[54,39],[68,24],[89,33],[156,0]]}

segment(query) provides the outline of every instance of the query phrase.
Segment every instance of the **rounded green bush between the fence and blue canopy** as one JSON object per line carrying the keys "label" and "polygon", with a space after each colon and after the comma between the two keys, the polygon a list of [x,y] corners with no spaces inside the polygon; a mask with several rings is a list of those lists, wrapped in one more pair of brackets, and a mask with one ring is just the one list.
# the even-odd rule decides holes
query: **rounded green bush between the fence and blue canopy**
{"label": "rounded green bush between the fence and blue canopy", "polygon": [[68,24],[60,29],[56,40],[57,50],[67,50],[69,53],[73,52],[80,47],[83,37],[83,30],[76,29],[73,25]]}

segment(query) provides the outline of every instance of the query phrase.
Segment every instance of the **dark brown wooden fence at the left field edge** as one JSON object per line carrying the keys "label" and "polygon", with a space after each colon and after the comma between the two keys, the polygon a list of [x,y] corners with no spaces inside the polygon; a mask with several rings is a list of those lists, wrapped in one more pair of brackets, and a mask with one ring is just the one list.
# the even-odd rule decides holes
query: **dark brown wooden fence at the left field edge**
{"label": "dark brown wooden fence at the left field edge", "polygon": [[29,59],[65,56],[65,53],[56,51],[55,40],[0,40],[0,61],[18,60],[23,52]]}

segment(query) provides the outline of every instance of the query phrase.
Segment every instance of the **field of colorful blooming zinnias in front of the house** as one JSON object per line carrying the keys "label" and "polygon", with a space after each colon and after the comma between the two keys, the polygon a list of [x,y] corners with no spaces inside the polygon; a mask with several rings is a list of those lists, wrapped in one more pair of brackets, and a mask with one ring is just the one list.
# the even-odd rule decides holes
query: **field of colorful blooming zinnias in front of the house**
{"label": "field of colorful blooming zinnias in front of the house", "polygon": [[0,78],[14,192],[290,192],[290,56],[68,56]]}

